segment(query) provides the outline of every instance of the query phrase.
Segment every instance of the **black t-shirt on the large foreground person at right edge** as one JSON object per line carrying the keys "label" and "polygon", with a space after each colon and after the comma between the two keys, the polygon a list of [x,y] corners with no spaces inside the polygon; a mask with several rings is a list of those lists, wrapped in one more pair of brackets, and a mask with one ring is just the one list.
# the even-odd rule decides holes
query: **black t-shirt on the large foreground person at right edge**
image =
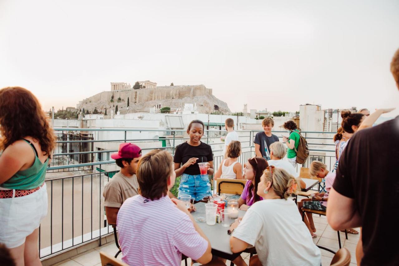
{"label": "black t-shirt on the large foreground person at right edge", "polygon": [[[354,199],[361,217],[361,265],[399,265],[399,116],[348,142],[334,189]],[[391,242],[392,241],[392,242]]]}

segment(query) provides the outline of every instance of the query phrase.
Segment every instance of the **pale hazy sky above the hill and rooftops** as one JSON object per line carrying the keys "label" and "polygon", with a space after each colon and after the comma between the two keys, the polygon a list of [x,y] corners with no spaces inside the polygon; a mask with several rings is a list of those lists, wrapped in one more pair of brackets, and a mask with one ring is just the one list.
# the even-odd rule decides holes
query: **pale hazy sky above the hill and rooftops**
{"label": "pale hazy sky above the hill and rooftops", "polygon": [[231,111],[397,107],[399,1],[0,0],[0,87],[43,109],[110,82],[204,84]]}

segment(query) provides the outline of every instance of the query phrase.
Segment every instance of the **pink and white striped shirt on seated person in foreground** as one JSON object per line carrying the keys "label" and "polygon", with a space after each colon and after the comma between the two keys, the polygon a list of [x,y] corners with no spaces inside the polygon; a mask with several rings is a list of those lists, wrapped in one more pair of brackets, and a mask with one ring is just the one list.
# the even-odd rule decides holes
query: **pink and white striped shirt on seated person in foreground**
{"label": "pink and white striped shirt on seated person in foreground", "polygon": [[196,260],[208,246],[190,217],[167,196],[127,199],[119,209],[117,226],[122,260],[129,265],[180,265],[182,253]]}

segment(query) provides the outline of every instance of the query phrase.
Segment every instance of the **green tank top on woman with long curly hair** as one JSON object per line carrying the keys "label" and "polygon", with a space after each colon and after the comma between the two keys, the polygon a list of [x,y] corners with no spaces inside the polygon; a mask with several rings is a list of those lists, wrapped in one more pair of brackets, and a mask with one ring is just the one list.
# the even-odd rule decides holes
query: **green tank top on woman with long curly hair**
{"label": "green tank top on woman with long curly hair", "polygon": [[18,171],[15,175],[13,175],[10,179],[0,185],[5,189],[36,189],[40,187],[46,175],[46,168],[49,158],[44,163],[41,163],[38,157],[38,151],[36,151],[35,146],[28,140],[24,139],[27,143],[29,143],[32,149],[35,151],[36,157],[35,162],[28,169]]}

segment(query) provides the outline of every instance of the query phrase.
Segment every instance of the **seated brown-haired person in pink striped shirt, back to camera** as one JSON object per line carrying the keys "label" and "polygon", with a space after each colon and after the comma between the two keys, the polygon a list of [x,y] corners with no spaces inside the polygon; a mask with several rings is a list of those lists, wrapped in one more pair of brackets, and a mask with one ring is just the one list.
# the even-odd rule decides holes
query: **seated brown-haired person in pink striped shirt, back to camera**
{"label": "seated brown-haired person in pink striped shirt, back to camera", "polygon": [[182,253],[202,264],[211,261],[211,244],[185,204],[168,197],[175,179],[167,151],[150,151],[140,159],[139,195],[122,204],[117,218],[125,263],[180,265]]}

